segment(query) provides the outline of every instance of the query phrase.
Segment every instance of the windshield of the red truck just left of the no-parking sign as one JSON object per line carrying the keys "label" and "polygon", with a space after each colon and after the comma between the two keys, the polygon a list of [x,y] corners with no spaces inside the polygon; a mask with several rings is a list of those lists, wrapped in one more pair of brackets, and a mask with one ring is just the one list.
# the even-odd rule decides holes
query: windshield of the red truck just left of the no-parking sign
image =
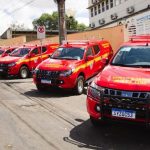
{"label": "windshield of the red truck just left of the no-parking sign", "polygon": [[29,51],[30,51],[29,48],[18,48],[18,49],[15,49],[15,50],[10,54],[10,56],[23,57],[23,56],[25,56],[26,54],[28,54]]}

